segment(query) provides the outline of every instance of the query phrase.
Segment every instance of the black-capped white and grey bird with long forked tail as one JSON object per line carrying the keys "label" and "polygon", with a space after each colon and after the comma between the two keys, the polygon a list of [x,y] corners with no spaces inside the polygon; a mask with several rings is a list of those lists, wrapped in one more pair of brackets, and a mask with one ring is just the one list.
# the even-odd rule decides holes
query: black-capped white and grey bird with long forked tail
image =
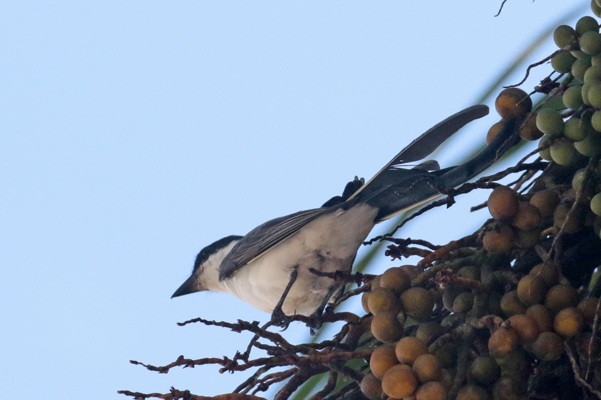
{"label": "black-capped white and grey bird with long forked tail", "polygon": [[488,113],[483,104],[455,113],[413,140],[367,183],[355,177],[342,196],[319,208],[271,219],[245,236],[211,243],[198,252],[191,275],[171,298],[227,292],[282,321],[319,313],[343,284],[311,269],[350,272],[374,225],[474,178],[517,143],[519,121],[507,121],[489,145],[463,164],[445,169],[435,160],[410,164]]}

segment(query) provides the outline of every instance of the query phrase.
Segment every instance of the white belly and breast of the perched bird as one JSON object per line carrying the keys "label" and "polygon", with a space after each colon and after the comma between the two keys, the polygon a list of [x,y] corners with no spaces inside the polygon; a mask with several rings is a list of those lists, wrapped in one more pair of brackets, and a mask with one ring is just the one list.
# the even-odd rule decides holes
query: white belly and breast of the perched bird
{"label": "white belly and breast of the perched bird", "polygon": [[374,225],[377,211],[367,204],[358,204],[321,216],[221,283],[225,291],[246,303],[272,312],[290,281],[291,270],[296,268],[298,277],[282,311],[287,315],[310,315],[323,302],[334,281],[318,277],[308,269],[350,271],[359,246]]}

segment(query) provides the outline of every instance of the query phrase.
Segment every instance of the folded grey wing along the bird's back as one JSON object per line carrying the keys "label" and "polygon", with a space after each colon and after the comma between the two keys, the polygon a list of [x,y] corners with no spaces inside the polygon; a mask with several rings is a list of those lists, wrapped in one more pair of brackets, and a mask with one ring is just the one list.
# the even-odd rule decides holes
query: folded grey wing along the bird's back
{"label": "folded grey wing along the bird's back", "polygon": [[219,266],[219,280],[230,278],[237,270],[290,237],[318,216],[338,207],[322,207],[299,211],[267,221],[242,237]]}

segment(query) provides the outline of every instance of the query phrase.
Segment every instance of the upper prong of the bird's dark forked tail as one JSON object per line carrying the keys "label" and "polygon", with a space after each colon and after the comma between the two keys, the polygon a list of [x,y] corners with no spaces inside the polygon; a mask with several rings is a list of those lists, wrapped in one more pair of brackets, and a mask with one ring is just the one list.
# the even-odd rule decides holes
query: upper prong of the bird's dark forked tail
{"label": "upper prong of the bird's dark forked tail", "polygon": [[474,119],[482,118],[483,116],[488,115],[488,113],[488,106],[477,104],[476,106],[471,106],[458,113],[454,113],[449,118],[434,125],[417,139],[413,140],[413,142],[409,143],[409,145],[401,150],[400,153],[395,155],[395,157],[379,170],[367,184],[363,185],[358,191],[353,193],[353,196],[351,196],[350,199],[357,196],[364,188],[369,187],[370,183],[383,171],[394,168],[399,164],[412,163],[413,161],[422,160],[423,158],[428,157],[438,148],[438,146],[442,145],[442,142],[447,140],[466,124],[474,121]]}

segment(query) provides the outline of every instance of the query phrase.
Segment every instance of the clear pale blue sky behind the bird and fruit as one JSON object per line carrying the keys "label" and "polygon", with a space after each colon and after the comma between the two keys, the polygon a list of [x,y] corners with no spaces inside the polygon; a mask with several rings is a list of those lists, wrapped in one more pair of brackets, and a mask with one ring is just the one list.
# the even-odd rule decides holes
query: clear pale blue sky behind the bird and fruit
{"label": "clear pale blue sky behind the bird and fruit", "polygon": [[[507,2],[493,17],[499,4],[4,2],[5,387],[46,399],[233,390],[246,375],[214,366],[156,374],[129,360],[164,365],[245,348],[249,335],[176,326],[268,318],[227,294],[169,299],[197,252],[319,206],[355,175],[370,178],[472,105],[574,6]],[[548,40],[529,62],[554,50]],[[549,72],[538,68],[526,87]],[[483,143],[497,120],[492,110],[463,131],[441,164]],[[469,233],[487,218],[469,206],[486,195],[457,199],[454,212],[399,236],[444,243]],[[397,264],[382,258],[374,271]],[[302,340],[307,329],[285,335]]]}

